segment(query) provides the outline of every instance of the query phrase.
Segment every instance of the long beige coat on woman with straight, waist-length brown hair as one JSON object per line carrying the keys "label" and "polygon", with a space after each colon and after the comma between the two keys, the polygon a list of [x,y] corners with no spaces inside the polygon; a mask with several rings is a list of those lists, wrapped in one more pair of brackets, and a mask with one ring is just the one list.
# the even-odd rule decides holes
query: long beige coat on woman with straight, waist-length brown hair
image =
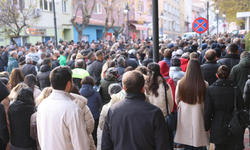
{"label": "long beige coat on woman with straight, waist-length brown hair", "polygon": [[[208,83],[206,86],[208,87]],[[204,125],[204,104],[190,105],[180,102],[177,83],[175,100],[178,105],[178,121],[174,142],[200,147],[209,145],[209,137]]]}

